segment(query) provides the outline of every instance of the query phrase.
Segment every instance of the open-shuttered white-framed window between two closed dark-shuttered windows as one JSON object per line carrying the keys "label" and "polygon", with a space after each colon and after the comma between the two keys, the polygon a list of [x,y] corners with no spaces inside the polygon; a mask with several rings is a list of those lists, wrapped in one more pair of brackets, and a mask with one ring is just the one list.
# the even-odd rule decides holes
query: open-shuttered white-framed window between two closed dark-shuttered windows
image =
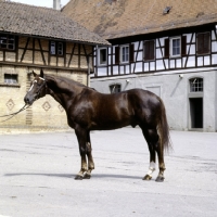
{"label": "open-shuttered white-framed window between two closed dark-shuttered windows", "polygon": [[187,54],[187,36],[166,38],[164,58],[179,58]]}

